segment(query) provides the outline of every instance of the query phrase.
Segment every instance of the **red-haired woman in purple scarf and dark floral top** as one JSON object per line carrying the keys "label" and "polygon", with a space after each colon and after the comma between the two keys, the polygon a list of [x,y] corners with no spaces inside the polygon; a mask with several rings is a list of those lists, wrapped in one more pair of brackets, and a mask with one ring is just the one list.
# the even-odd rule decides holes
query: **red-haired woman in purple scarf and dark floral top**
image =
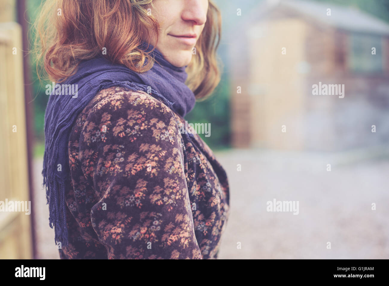
{"label": "red-haired woman in purple scarf and dark floral top", "polygon": [[184,119],[219,82],[217,8],[50,2],[38,23],[54,86],[42,174],[60,257],[217,258],[228,180]]}

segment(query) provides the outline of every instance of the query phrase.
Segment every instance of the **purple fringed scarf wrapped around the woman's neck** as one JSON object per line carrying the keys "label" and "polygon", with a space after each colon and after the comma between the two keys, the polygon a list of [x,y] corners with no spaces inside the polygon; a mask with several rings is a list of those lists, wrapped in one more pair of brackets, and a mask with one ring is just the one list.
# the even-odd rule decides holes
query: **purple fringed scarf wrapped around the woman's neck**
{"label": "purple fringed scarf wrapped around the woman's neck", "polygon": [[[150,51],[153,46],[143,43],[141,48]],[[156,63],[145,73],[137,73],[124,65],[113,65],[104,58],[84,60],[77,72],[49,91],[45,114],[45,153],[43,184],[49,204],[49,226],[55,226],[55,242],[68,244],[66,225],[65,190],[69,187],[68,138],[77,116],[104,88],[120,86],[128,90],[142,90],[164,102],[170,109],[184,117],[195,105],[195,95],[186,86],[186,67],[175,67],[154,49]],[[72,91],[64,84],[71,84]],[[77,88],[75,85],[77,84]],[[47,92],[48,93],[48,92]],[[58,164],[61,164],[59,166]]]}

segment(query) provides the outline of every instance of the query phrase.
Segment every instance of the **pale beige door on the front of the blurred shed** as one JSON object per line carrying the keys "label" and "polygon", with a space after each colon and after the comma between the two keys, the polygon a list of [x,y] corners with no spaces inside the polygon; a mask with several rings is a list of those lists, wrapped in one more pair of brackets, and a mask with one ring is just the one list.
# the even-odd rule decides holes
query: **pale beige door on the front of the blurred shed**
{"label": "pale beige door on the front of the blurred shed", "polygon": [[[264,21],[251,30],[251,146],[303,149],[303,75],[307,27],[299,19]],[[282,48],[286,54],[282,54]],[[286,133],[281,126],[286,126]]]}

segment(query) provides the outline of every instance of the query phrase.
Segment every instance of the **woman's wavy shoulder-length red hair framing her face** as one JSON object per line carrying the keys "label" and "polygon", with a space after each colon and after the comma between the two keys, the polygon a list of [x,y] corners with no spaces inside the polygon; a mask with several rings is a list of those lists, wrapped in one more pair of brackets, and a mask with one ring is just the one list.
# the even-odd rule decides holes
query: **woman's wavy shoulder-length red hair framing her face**
{"label": "woman's wavy shoulder-length red hair framing her face", "polygon": [[[80,60],[102,54],[136,72],[145,72],[154,60],[138,46],[149,42],[149,30],[158,35],[158,22],[148,14],[152,0],[46,0],[35,23],[37,72],[60,82],[74,74]],[[187,67],[186,84],[197,99],[212,93],[220,81],[216,49],[221,37],[221,15],[209,0],[207,21],[196,43],[196,56]],[[147,64],[145,62],[147,60]],[[42,65],[40,65],[42,64]],[[41,77],[41,76],[40,76]]]}

